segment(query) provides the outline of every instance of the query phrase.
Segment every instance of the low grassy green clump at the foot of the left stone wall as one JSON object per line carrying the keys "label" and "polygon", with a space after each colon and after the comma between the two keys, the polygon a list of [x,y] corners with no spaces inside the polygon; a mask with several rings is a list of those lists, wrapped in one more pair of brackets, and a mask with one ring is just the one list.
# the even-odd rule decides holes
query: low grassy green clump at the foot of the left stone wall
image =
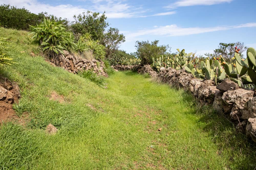
{"label": "low grassy green clump at the foot of the left stone wall", "polygon": [[93,72],[92,69],[83,71],[83,72],[79,72],[78,75],[85,79],[89,79],[91,82],[97,84],[101,88],[104,88],[107,85],[104,77],[98,76],[96,73]]}

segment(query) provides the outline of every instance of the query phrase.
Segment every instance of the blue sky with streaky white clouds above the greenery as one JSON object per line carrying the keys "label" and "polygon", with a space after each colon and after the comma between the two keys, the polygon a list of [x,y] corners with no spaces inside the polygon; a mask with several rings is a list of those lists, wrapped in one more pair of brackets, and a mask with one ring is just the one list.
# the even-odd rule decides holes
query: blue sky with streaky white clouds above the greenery
{"label": "blue sky with streaky white clouds above the greenery", "polygon": [[110,27],[125,35],[120,49],[128,53],[136,51],[137,40],[159,40],[172,52],[179,48],[198,55],[213,53],[221,42],[240,41],[256,49],[255,0],[0,0],[0,4],[70,21],[87,10],[105,11]]}

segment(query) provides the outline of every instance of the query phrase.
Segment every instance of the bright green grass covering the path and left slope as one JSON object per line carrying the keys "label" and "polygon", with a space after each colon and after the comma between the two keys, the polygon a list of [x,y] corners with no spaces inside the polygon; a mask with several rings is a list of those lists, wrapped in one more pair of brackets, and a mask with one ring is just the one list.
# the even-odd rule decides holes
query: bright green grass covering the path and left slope
{"label": "bright green grass covering the path and left slope", "polygon": [[[210,107],[200,109],[183,90],[117,72],[103,89],[52,67],[27,32],[3,29],[12,42],[13,67],[27,127],[0,127],[0,169],[254,169],[255,144],[236,134]],[[25,51],[25,53],[20,53]],[[39,53],[40,54],[40,53]],[[64,103],[49,100],[55,91]],[[56,135],[45,127],[54,124]],[[162,128],[161,132],[158,128]]]}

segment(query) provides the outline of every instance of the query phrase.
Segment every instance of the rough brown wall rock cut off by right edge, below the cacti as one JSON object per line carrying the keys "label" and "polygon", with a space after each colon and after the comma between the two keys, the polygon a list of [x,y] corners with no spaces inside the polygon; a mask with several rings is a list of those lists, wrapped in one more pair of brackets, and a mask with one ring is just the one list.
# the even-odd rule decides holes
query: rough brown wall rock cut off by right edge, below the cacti
{"label": "rough brown wall rock cut off by right edge, below the cacti", "polygon": [[244,104],[242,119],[249,119],[256,117],[256,97],[248,100]]}

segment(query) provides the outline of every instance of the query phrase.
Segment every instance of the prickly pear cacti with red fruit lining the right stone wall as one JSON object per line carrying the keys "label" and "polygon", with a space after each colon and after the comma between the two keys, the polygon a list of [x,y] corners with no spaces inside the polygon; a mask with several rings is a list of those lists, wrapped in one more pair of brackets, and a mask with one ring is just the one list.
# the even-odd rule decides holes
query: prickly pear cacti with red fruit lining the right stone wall
{"label": "prickly pear cacti with red fruit lining the right stone wall", "polygon": [[208,57],[205,61],[200,61],[199,63],[199,58],[196,58],[194,54],[187,54],[184,49],[182,51],[177,50],[179,54],[172,58],[168,56],[162,56],[156,60],[153,58],[153,68],[158,71],[161,67],[171,67],[177,70],[184,68],[194,77],[201,80],[213,80],[216,85],[229,78],[241,88],[256,88],[256,50],[254,48],[248,48],[247,58],[242,59],[238,53],[240,49],[236,47],[236,53],[232,58],[233,63],[229,64],[221,55],[212,59]]}

